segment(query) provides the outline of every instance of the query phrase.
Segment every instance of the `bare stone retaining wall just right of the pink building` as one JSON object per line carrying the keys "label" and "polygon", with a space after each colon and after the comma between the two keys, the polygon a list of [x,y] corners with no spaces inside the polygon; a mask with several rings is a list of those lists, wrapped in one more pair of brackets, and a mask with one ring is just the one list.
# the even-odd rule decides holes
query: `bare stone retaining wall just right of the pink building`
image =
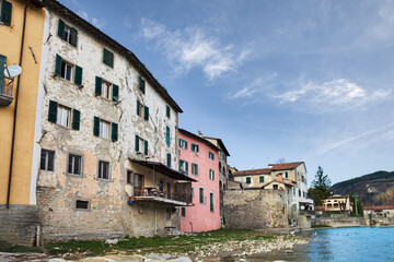
{"label": "bare stone retaining wall just right of the pink building", "polygon": [[279,190],[224,191],[224,219],[228,228],[287,228],[287,194]]}

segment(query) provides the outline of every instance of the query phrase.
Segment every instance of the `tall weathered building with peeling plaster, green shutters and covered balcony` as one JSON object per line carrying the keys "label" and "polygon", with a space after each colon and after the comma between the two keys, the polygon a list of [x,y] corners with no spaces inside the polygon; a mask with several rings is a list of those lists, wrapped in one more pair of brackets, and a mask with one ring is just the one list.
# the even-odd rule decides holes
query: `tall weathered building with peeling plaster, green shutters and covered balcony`
{"label": "tall weathered building with peeling plaster, green shutters and covered balcony", "polygon": [[37,127],[43,239],[178,227],[179,106],[138,58],[59,2],[46,4]]}

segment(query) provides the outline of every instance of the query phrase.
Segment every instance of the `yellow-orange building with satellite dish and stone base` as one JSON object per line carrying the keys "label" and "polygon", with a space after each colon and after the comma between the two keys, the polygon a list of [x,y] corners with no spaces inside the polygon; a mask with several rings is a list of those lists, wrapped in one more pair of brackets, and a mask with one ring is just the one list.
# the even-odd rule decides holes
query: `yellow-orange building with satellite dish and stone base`
{"label": "yellow-orange building with satellite dish and stone base", "polygon": [[[0,0],[0,243],[31,245],[37,225],[32,174],[38,167],[32,163],[40,136],[35,122],[44,21],[40,1]],[[12,64],[22,73],[4,78]]]}

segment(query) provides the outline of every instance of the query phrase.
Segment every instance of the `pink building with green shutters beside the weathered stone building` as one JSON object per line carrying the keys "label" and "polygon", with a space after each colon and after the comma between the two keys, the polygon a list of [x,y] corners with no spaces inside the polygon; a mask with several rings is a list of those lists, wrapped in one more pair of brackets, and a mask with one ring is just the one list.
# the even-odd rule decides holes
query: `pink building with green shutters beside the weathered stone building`
{"label": "pink building with green shutters beside the weathered stone building", "polygon": [[182,231],[220,228],[219,148],[204,138],[179,129],[179,171],[193,177],[193,206],[181,207]]}

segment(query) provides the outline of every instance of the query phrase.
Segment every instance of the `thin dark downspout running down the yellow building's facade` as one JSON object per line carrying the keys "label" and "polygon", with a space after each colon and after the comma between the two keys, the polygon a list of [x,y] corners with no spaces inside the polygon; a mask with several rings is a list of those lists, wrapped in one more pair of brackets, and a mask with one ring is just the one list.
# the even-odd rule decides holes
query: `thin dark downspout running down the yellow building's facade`
{"label": "thin dark downspout running down the yellow building's facade", "polygon": [[[27,15],[27,8],[31,0],[27,1],[24,15],[23,15],[23,29],[22,29],[22,40],[21,40],[21,51],[20,51],[20,63],[19,66],[22,67],[22,57],[23,57],[23,45],[24,45],[24,35],[26,28],[26,15]],[[11,145],[11,157],[10,157],[10,174],[9,174],[9,182],[8,182],[8,191],[7,191],[7,209],[10,209],[10,194],[11,194],[11,179],[12,179],[12,164],[13,164],[13,152],[15,147],[15,129],[16,129],[16,112],[18,112],[18,97],[19,97],[19,87],[21,83],[21,75],[18,76],[18,84],[16,84],[16,94],[15,94],[15,107],[14,107],[14,120],[13,120],[13,128],[12,128],[12,145]]]}

